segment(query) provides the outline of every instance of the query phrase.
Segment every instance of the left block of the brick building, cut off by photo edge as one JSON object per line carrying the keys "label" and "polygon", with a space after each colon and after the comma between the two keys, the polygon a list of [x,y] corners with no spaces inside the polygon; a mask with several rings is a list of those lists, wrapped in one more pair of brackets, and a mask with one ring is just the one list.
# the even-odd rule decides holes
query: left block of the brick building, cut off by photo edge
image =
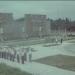
{"label": "left block of the brick building, cut off by photo edge", "polygon": [[0,40],[13,36],[14,20],[12,13],[0,13]]}

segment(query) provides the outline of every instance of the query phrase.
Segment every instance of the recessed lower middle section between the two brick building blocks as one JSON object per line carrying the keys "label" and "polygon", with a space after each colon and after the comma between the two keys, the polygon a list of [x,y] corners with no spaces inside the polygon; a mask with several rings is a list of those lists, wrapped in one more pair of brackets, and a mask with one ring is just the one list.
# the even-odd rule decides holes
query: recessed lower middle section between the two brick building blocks
{"label": "recessed lower middle section between the two brick building blocks", "polygon": [[25,19],[20,18],[15,21],[15,37],[17,39],[25,38]]}

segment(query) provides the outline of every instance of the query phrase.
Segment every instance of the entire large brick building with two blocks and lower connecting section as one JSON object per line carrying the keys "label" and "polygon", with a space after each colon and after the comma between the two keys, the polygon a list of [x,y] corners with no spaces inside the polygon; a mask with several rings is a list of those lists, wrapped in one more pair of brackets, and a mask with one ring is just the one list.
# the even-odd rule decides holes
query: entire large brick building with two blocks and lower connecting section
{"label": "entire large brick building with two blocks and lower connecting section", "polygon": [[50,20],[46,15],[26,14],[13,19],[12,13],[0,13],[0,40],[43,37],[50,34]]}

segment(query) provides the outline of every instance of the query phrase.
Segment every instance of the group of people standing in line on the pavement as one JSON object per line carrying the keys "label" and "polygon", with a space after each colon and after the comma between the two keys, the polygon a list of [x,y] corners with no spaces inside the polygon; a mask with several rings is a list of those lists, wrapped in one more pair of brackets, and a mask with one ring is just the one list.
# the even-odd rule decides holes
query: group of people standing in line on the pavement
{"label": "group of people standing in line on the pavement", "polygon": [[15,48],[0,47],[0,58],[24,64],[28,61],[28,58],[29,62],[31,62],[32,53],[29,53],[29,50],[31,50],[31,48],[16,50]]}

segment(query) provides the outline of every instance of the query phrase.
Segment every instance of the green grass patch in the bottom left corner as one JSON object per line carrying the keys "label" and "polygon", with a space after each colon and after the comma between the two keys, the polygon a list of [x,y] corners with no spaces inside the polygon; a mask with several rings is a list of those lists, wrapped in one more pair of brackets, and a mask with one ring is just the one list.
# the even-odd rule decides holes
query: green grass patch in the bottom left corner
{"label": "green grass patch in the bottom left corner", "polygon": [[5,64],[0,64],[0,75],[31,75],[31,74],[20,71],[17,68],[9,67]]}

